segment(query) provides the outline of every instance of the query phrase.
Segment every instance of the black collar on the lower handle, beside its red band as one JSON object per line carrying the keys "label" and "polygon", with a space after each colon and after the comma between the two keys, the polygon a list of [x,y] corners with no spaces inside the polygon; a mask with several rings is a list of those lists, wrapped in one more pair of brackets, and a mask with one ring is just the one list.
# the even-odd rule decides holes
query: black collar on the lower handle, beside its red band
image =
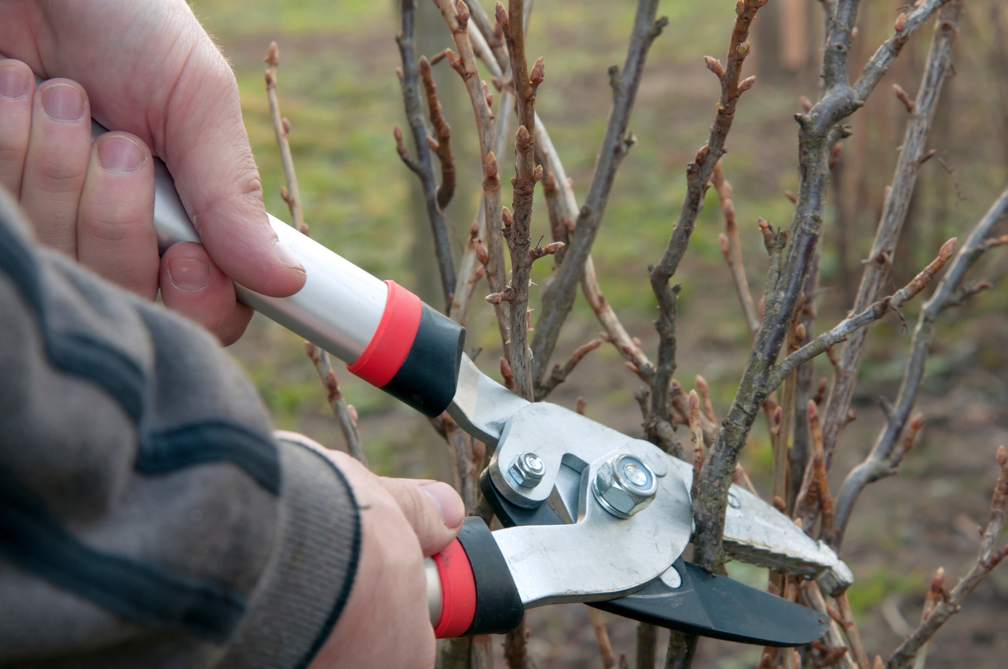
{"label": "black collar on the lower handle, beside its red band", "polygon": [[459,543],[469,557],[476,579],[476,616],[464,636],[506,634],[518,627],[525,607],[507,561],[482,518],[466,519],[459,532]]}

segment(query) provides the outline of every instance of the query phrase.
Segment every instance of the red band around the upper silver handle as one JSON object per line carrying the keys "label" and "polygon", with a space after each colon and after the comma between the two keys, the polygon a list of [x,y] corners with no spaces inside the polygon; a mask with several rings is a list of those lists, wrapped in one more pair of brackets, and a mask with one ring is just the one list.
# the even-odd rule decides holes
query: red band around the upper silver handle
{"label": "red band around the upper silver handle", "polygon": [[423,302],[395,281],[386,281],[388,297],[375,333],[361,357],[347,370],[376,388],[383,388],[395,376],[420,328]]}

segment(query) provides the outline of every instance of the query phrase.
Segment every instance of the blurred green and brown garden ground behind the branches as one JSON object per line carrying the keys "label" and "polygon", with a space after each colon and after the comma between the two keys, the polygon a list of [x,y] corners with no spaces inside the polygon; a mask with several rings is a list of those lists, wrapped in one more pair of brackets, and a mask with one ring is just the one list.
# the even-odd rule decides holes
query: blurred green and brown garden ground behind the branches
{"label": "blurred green and brown garden ground behind the branches", "polygon": [[[489,0],[487,8],[492,10]],[[417,51],[432,55],[451,42],[432,3],[418,4]],[[718,82],[703,55],[724,59],[734,0],[666,0],[659,14],[668,27],[648,56],[630,128],[638,139],[618,172],[594,257],[600,283],[631,333],[651,355],[655,302],[647,265],[657,261],[685,192],[684,168],[707,139]],[[900,0],[862,3],[852,49],[852,72],[891,33]],[[198,0],[204,25],[231,60],[242,90],[245,121],[262,171],[267,208],[287,220],[282,174],[269,123],[262,58],[270,40],[280,47],[279,96],[290,120],[290,142],[312,237],[370,272],[409,287],[439,304],[429,227],[415,177],[395,152],[392,126],[405,126],[395,76],[396,0]],[[946,84],[928,148],[938,160],[922,168],[895,256],[895,284],[928,262],[949,237],[962,236],[1008,180],[1008,8],[1002,0],[967,0],[956,45],[956,76]],[[539,0],[527,40],[530,57],[543,55],[546,81],[537,111],[549,129],[579,198],[584,196],[610,107],[606,69],[622,65],[635,3],[631,0]],[[746,75],[756,86],[739,106],[729,136],[725,173],[735,205],[753,293],[758,299],[766,254],[757,217],[787,227],[796,190],[797,133],[792,115],[799,96],[818,90],[823,12],[813,0],[772,0],[760,10]],[[882,207],[883,189],[902,140],[907,113],[892,93],[899,84],[916,94],[930,41],[926,27],[907,45],[868,105],[849,121],[854,135],[843,148],[827,212],[820,327],[842,318],[853,302],[862,259]],[[458,75],[435,65],[440,100],[453,128],[460,175],[448,216],[458,246],[479,204],[480,165],[472,108]],[[484,73],[489,81],[489,76]],[[407,144],[411,145],[409,141]],[[502,160],[502,174],[511,173]],[[503,200],[510,202],[507,179]],[[541,191],[537,192],[541,198]],[[545,208],[533,230],[548,235]],[[723,229],[713,189],[676,280],[679,298],[679,370],[684,387],[702,374],[715,408],[724,415],[749,351],[728,269],[718,248]],[[1005,231],[1002,231],[1005,232]],[[540,263],[538,272],[550,263]],[[965,572],[975,559],[976,526],[986,521],[995,479],[994,452],[1008,441],[1008,255],[988,253],[972,278],[995,288],[942,316],[918,409],[925,422],[899,477],[862,496],[845,542],[844,557],[857,576],[851,603],[870,654],[885,655],[915,626],[933,570]],[[477,290],[468,346],[482,349],[478,364],[498,377],[499,342],[489,305]],[[533,286],[531,305],[539,294]],[[912,323],[925,296],[905,309]],[[533,320],[535,312],[532,314]],[[599,326],[579,297],[557,354],[597,335]],[[902,375],[909,332],[897,318],[876,325],[854,406],[832,473],[839,487],[867,452],[882,420],[880,397],[893,398]],[[256,316],[230,350],[252,376],[276,423],[340,447],[342,437],[298,338]],[[821,361],[822,375],[829,363]],[[339,370],[338,370],[339,374]],[[425,419],[349,373],[339,374],[348,402],[360,414],[364,449],[383,475],[452,480],[447,446]],[[591,354],[551,400],[569,407],[583,396],[589,416],[629,434],[641,434],[633,399],[638,380],[618,354]],[[743,462],[757,489],[769,488],[771,454],[766,427],[753,429]],[[765,585],[766,573],[729,565],[732,575]],[[599,667],[583,606],[529,614],[530,652],[540,669]],[[607,615],[617,652],[633,659],[634,624]],[[935,637],[928,667],[1003,667],[1008,650],[1008,569],[995,571],[964,612]],[[659,639],[662,656],[664,646]],[[753,667],[758,649],[705,640],[698,667]],[[498,666],[504,666],[498,662]]]}

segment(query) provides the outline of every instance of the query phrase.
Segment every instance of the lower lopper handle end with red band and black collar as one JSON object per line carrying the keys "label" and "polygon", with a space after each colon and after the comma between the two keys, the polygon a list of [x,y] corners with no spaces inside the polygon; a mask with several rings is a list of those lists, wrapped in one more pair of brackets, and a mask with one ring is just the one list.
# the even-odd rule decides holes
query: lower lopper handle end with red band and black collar
{"label": "lower lopper handle end with red band and black collar", "polygon": [[505,634],[525,613],[507,561],[482,518],[471,516],[459,537],[426,559],[427,608],[438,639]]}

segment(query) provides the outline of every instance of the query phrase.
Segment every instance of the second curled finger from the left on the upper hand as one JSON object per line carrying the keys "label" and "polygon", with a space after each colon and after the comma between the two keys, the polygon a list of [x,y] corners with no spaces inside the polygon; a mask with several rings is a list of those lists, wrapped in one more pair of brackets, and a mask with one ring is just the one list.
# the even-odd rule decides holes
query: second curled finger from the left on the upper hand
{"label": "second curled finger from the left on the upper hand", "polygon": [[88,96],[76,82],[50,79],[35,90],[21,176],[21,207],[38,241],[77,258],[77,210],[91,154]]}

